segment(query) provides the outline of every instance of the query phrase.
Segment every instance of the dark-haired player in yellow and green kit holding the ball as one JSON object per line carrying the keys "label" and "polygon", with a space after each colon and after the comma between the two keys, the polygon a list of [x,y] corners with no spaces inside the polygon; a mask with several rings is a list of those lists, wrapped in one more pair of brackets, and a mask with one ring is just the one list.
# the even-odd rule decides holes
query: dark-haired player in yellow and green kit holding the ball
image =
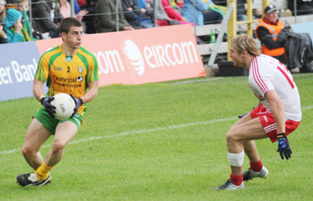
{"label": "dark-haired player in yellow and green kit holding the ball", "polygon": [[[50,171],[63,157],[65,146],[77,134],[90,100],[98,93],[98,65],[93,53],[81,47],[83,27],[73,17],[61,21],[63,44],[44,53],[33,81],[33,94],[42,106],[33,115],[26,133],[22,154],[33,172],[18,175],[21,186],[43,186],[51,182]],[[47,94],[42,86],[47,82]],[[73,115],[63,121],[54,119],[55,107],[50,104],[55,94],[70,94],[76,103]],[[42,143],[54,135],[45,159],[39,150]]]}

